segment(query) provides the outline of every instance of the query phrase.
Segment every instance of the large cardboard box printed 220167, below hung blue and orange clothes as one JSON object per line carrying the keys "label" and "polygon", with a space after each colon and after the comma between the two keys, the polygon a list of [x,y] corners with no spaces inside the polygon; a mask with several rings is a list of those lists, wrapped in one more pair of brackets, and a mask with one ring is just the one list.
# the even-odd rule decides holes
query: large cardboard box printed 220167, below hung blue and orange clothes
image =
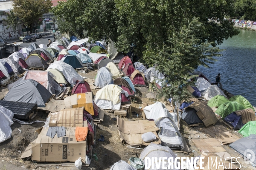
{"label": "large cardboard box printed 220167, below hung blue and orange clothes", "polygon": [[76,127],[65,127],[66,136],[54,138],[46,136],[49,127],[43,127],[38,138],[32,142],[32,161],[65,162],[86,158],[86,140],[77,142]]}

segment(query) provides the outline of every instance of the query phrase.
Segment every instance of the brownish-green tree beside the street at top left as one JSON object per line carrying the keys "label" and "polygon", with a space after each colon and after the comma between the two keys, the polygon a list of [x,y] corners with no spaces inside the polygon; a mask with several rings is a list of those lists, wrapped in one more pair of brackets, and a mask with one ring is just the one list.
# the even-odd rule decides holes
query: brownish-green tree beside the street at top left
{"label": "brownish-green tree beside the street at top left", "polygon": [[47,14],[52,7],[51,0],[13,0],[13,12],[24,26],[32,29],[40,22],[39,18]]}

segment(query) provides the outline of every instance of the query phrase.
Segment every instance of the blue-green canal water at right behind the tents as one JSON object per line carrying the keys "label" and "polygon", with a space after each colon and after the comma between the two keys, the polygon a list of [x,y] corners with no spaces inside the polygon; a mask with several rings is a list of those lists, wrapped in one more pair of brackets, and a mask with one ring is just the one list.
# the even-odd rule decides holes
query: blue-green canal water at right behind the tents
{"label": "blue-green canal water at right behind the tents", "polygon": [[210,68],[199,67],[209,79],[215,81],[221,73],[223,88],[234,95],[244,96],[256,106],[256,31],[240,30],[237,36],[224,40],[220,49],[225,49],[218,62]]}

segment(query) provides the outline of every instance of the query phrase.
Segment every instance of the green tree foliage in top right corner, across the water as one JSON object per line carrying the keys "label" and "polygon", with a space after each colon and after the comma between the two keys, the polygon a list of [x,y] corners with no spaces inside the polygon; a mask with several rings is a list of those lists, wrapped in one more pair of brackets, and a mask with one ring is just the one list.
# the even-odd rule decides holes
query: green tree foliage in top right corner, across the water
{"label": "green tree foliage in top right corner, across the water", "polygon": [[256,20],[256,0],[236,0],[235,15],[242,20]]}

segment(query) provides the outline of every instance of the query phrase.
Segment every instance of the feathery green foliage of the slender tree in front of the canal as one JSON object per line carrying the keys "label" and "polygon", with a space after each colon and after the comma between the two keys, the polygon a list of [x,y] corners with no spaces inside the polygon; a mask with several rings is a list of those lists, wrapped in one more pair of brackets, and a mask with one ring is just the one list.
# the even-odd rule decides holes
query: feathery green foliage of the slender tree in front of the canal
{"label": "feathery green foliage of the slender tree in front of the canal", "polygon": [[157,54],[152,54],[149,59],[156,63],[156,69],[163,73],[166,78],[162,80],[163,88],[160,89],[158,97],[169,99],[173,97],[175,101],[186,100],[192,97],[186,89],[194,84],[188,80],[195,78],[189,75],[200,65],[208,67],[216,61],[213,57],[220,57],[221,50],[211,47],[213,42],[200,43],[200,39],[193,33],[200,29],[202,24],[198,18],[189,22],[188,26],[183,26],[179,30],[172,29],[168,40],[163,44],[163,48]]}

